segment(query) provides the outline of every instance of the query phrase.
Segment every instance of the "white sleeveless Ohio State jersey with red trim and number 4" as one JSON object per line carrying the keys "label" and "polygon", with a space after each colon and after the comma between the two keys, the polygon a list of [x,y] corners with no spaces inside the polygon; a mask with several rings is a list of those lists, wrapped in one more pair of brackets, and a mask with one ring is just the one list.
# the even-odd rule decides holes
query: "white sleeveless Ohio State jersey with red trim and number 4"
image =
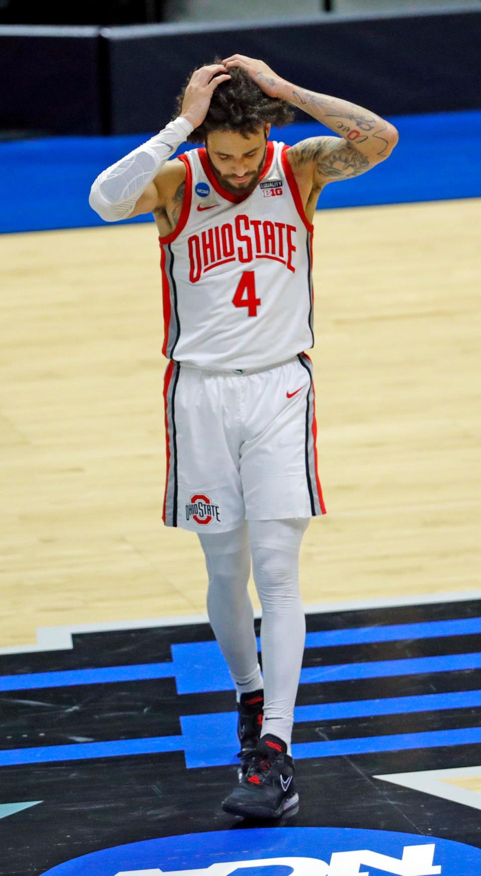
{"label": "white sleeveless Ohio State jersey with red trim and number 4", "polygon": [[313,226],[287,150],[269,141],[258,185],[238,195],[216,180],[205,149],[180,156],[180,220],[159,237],[163,353],[173,361],[240,371],[313,346]]}

